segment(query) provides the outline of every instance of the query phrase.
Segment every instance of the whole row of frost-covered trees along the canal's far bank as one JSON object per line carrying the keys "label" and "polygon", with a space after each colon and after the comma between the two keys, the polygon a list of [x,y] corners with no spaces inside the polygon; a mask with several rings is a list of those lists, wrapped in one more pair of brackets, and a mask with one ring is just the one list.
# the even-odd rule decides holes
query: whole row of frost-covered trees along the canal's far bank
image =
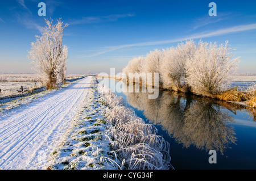
{"label": "whole row of frost-covered trees along the canal's far bank", "polygon": [[233,58],[228,41],[217,45],[189,40],[176,48],[155,49],[145,57],[136,57],[123,73],[127,79],[129,73],[159,73],[163,89],[211,96],[228,89],[239,61],[239,57]]}

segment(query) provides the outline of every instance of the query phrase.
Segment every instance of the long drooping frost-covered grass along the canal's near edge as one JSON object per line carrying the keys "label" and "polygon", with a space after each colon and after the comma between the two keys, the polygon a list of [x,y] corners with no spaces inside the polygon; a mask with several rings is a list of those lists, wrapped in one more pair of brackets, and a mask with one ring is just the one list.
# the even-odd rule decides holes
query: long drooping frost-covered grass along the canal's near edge
{"label": "long drooping frost-covered grass along the canal's near edge", "polygon": [[103,95],[100,102],[108,106],[106,136],[112,147],[112,155],[101,157],[101,161],[116,169],[174,169],[170,165],[170,145],[156,134],[154,125],[146,124],[108,88],[98,87],[98,90]]}

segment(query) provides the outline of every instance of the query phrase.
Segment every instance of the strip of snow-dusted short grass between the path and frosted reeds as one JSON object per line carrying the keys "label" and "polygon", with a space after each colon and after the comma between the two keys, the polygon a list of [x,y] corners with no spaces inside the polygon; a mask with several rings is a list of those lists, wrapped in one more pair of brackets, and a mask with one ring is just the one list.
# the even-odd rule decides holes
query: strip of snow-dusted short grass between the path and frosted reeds
{"label": "strip of snow-dusted short grass between the path and frosted reeds", "polygon": [[63,137],[61,144],[51,153],[44,169],[114,169],[104,165],[101,157],[106,157],[110,151],[106,140],[106,121],[104,107],[98,98],[95,88],[88,88],[89,95],[84,104],[80,105],[76,119]]}

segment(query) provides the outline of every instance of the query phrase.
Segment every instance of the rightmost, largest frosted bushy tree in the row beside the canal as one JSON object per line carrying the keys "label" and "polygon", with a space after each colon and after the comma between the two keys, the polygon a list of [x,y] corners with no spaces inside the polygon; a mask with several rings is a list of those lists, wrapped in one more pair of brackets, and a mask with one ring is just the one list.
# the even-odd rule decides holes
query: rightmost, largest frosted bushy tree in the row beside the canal
{"label": "rightmost, largest frosted bushy tree in the row beside the canal", "polygon": [[211,96],[225,91],[238,62],[239,58],[231,55],[228,41],[219,46],[200,41],[194,56],[185,64],[187,83],[195,94]]}

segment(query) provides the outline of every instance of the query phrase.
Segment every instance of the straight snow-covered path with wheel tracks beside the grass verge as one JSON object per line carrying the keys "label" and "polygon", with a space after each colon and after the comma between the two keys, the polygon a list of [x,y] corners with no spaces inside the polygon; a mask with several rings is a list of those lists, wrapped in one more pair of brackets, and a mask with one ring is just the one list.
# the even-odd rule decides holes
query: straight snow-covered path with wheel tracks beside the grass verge
{"label": "straight snow-covered path with wheel tracks beside the grass verge", "polygon": [[0,169],[40,169],[38,155],[53,149],[94,79],[81,79],[0,119]]}

